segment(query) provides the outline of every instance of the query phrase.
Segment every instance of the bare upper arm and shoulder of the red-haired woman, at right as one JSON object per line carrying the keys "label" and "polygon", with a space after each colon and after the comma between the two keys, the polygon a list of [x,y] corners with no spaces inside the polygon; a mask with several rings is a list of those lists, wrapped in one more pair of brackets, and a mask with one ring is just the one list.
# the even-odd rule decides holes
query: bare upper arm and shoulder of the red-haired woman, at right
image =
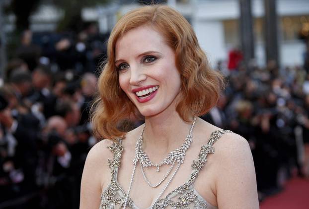
{"label": "bare upper arm and shoulder of the red-haired woman, at right", "polygon": [[232,133],[223,135],[217,143],[219,209],[259,209],[254,163],[247,141]]}

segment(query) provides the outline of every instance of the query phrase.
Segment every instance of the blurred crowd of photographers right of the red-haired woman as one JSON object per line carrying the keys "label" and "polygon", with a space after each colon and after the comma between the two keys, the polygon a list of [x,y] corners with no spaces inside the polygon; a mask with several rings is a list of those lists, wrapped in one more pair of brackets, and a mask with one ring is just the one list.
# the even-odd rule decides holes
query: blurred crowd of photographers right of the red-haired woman
{"label": "blurred crowd of photographers right of the red-haired woman", "polygon": [[239,57],[232,63],[218,63],[227,88],[202,118],[247,139],[262,200],[291,177],[309,177],[309,47],[303,66],[244,67]]}

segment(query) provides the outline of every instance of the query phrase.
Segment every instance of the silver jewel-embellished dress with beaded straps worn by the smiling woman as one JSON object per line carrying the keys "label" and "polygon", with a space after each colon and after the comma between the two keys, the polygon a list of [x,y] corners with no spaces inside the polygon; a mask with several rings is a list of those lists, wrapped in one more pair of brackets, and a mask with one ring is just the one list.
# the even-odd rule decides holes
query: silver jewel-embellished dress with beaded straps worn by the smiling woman
{"label": "silver jewel-embellished dress with beaded straps worn by the smiling woman", "polygon": [[[231,133],[231,131],[217,130],[211,133],[208,143],[201,147],[198,158],[193,160],[191,165],[192,172],[188,181],[168,193],[165,197],[157,200],[153,209],[218,209],[207,203],[195,190],[194,182],[207,161],[207,155],[215,152],[213,147],[214,143],[225,133]],[[100,196],[101,202],[99,209],[119,209],[124,206],[126,200],[126,193],[117,181],[117,174],[123,151],[121,140],[114,142],[113,145],[108,148],[114,154],[114,158],[108,160],[112,177],[111,183]],[[130,197],[128,197],[126,208],[139,209]],[[151,208],[149,207],[149,209]]]}

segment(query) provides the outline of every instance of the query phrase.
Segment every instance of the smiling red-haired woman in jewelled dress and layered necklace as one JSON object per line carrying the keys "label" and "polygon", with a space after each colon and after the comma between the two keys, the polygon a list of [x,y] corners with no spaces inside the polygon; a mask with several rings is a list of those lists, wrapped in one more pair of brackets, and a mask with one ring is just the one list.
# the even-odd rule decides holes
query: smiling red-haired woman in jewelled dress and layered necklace
{"label": "smiling red-haired woman in jewelled dress and layered necklace", "polygon": [[[175,10],[153,5],[123,16],[92,117],[97,136],[111,140],[88,154],[80,209],[257,209],[248,143],[197,117],[216,104],[222,81]],[[121,132],[132,115],[145,125]]]}

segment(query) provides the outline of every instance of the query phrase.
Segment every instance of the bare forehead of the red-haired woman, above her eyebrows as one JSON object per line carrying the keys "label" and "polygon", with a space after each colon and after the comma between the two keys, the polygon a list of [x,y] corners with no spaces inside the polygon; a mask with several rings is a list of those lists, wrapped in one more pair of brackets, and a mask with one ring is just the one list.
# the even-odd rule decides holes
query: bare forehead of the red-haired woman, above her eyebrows
{"label": "bare forehead of the red-haired woman, above her eyebrows", "polygon": [[116,59],[128,53],[164,51],[168,47],[164,37],[151,26],[140,26],[121,36],[115,46]]}

